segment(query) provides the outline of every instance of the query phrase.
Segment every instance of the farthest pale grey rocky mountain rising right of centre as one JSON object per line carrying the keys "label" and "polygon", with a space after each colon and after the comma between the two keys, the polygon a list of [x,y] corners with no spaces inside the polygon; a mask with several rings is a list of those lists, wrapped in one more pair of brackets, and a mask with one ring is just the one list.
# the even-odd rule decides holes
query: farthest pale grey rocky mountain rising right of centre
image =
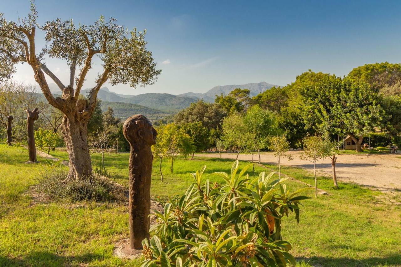
{"label": "farthest pale grey rocky mountain rising right of centre", "polygon": [[206,93],[189,92],[189,93],[181,94],[179,96],[187,96],[187,97],[192,97],[192,98],[196,98],[196,99],[203,99],[204,101],[207,101],[207,102],[214,102],[216,95],[220,95],[221,93],[223,93],[223,95],[228,95],[235,88],[249,89],[249,91],[251,91],[250,96],[253,97],[263,91],[266,91],[267,89],[270,89],[273,86],[274,86],[273,84],[266,83],[266,82],[223,85],[223,86],[219,85],[219,86],[213,87]]}

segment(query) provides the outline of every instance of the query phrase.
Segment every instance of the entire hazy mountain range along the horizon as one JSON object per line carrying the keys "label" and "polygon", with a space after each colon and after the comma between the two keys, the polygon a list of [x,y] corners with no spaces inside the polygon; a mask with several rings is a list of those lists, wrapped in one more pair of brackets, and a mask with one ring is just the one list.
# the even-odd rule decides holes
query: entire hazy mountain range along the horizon
{"label": "entire hazy mountain range along the horizon", "polygon": [[[164,117],[188,107],[191,103],[199,99],[213,103],[216,95],[228,95],[235,88],[249,89],[249,91],[251,91],[250,96],[252,97],[273,86],[274,85],[266,82],[247,83],[243,85],[219,85],[213,87],[206,93],[188,92],[180,95],[168,93],[122,95],[110,91],[107,87],[102,87],[97,93],[97,96],[98,99],[103,101],[103,110],[106,110],[107,107],[110,106],[115,111],[115,115],[121,119],[126,119],[134,113],[143,113],[145,116],[152,115],[152,117]],[[53,94],[60,94],[60,89],[55,83],[50,83],[49,88]],[[87,95],[89,90],[90,89],[82,90],[82,95]]]}

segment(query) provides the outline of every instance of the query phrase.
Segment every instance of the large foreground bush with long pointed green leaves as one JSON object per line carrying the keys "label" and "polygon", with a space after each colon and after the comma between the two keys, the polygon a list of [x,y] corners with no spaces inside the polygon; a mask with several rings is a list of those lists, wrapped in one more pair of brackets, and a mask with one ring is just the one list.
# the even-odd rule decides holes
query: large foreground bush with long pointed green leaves
{"label": "large foreground bush with long pointed green leaves", "polygon": [[231,174],[216,172],[225,183],[202,181],[201,171],[192,174],[195,182],[177,201],[166,203],[164,213],[155,211],[158,224],[150,242],[142,241],[145,260],[141,266],[286,266],[295,265],[282,240],[281,218],[289,212],[299,220],[300,200],[273,179],[273,173],[249,180],[247,165],[239,172],[238,161]]}

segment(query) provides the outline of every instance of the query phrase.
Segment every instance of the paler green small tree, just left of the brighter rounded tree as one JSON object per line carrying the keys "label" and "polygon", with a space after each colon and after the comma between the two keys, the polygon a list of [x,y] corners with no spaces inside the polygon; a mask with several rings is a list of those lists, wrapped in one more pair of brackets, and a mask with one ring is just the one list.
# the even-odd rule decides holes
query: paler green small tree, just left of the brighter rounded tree
{"label": "paler green small tree, just left of the brighter rounded tree", "polygon": [[236,159],[238,159],[239,152],[247,148],[249,144],[249,134],[245,129],[243,115],[239,113],[233,113],[223,119],[223,142],[225,147],[237,150]]}

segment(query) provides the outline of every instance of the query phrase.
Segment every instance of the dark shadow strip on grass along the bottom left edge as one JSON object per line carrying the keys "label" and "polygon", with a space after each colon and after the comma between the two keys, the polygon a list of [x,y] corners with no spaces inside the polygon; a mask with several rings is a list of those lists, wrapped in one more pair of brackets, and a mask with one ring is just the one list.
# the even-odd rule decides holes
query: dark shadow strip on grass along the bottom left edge
{"label": "dark shadow strip on grass along the bottom left edge", "polygon": [[0,266],[81,266],[94,260],[103,259],[101,254],[85,253],[77,256],[61,256],[47,251],[33,251],[20,258],[0,256]]}

